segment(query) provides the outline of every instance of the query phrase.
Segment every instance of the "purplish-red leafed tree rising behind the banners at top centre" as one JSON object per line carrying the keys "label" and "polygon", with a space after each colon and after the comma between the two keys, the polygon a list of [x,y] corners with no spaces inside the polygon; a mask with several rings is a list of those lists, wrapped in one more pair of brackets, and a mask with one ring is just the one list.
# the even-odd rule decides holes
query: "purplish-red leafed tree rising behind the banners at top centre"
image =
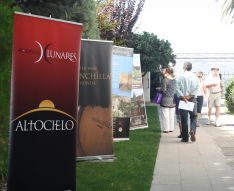
{"label": "purplish-red leafed tree rising behind the banners at top centre", "polygon": [[99,0],[97,19],[101,38],[125,45],[145,0]]}

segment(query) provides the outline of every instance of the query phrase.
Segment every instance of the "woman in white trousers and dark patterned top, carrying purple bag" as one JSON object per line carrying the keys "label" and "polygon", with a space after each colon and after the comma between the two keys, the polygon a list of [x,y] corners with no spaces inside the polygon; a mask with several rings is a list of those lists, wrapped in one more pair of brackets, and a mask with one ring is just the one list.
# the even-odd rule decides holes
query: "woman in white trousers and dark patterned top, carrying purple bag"
{"label": "woman in white trousers and dark patterned top, carrying purple bag", "polygon": [[163,133],[169,133],[175,129],[175,106],[174,95],[176,93],[176,80],[173,78],[173,69],[163,70],[162,101],[160,103],[160,126]]}

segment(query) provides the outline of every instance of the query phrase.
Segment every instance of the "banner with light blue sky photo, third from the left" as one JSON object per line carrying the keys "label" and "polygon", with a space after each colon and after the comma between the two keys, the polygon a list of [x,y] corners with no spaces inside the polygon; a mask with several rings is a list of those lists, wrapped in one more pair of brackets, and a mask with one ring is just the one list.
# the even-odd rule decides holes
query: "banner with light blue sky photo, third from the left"
{"label": "banner with light blue sky photo, third from the left", "polygon": [[114,140],[129,140],[133,49],[114,46],[112,108]]}

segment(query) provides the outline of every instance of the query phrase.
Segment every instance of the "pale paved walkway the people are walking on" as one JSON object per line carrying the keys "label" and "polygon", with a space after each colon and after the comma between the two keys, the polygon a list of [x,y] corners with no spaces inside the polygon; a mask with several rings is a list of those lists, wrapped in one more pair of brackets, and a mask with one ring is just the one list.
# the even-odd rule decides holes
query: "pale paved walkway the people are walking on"
{"label": "pale paved walkway the people are walking on", "polygon": [[205,125],[203,115],[196,142],[180,142],[178,127],[161,134],[150,191],[234,190],[234,116],[225,110],[222,127]]}

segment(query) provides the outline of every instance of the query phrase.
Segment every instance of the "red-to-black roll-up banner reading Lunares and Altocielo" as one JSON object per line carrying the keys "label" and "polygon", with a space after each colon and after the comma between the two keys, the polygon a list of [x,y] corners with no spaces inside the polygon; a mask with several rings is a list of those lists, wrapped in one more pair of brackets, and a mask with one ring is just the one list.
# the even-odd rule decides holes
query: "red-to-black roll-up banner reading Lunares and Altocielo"
{"label": "red-to-black roll-up banner reading Lunares and Altocielo", "polygon": [[82,25],[15,13],[8,191],[76,190]]}

